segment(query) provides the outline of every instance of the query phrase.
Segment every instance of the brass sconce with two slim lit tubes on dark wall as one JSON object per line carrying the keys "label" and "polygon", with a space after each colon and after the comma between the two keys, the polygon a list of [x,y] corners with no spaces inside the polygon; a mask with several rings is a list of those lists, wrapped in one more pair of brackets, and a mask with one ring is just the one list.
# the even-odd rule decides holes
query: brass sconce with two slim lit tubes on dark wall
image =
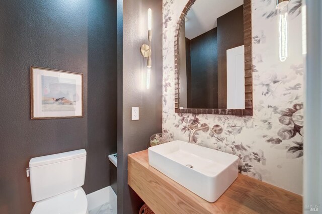
{"label": "brass sconce with two slim lit tubes on dark wall", "polygon": [[149,44],[143,44],[141,46],[141,54],[143,57],[147,58],[147,73],[146,73],[146,89],[150,87],[150,74],[151,74],[151,67],[152,67],[152,60],[151,60],[151,39],[152,39],[152,11],[149,8],[147,10],[147,39]]}

